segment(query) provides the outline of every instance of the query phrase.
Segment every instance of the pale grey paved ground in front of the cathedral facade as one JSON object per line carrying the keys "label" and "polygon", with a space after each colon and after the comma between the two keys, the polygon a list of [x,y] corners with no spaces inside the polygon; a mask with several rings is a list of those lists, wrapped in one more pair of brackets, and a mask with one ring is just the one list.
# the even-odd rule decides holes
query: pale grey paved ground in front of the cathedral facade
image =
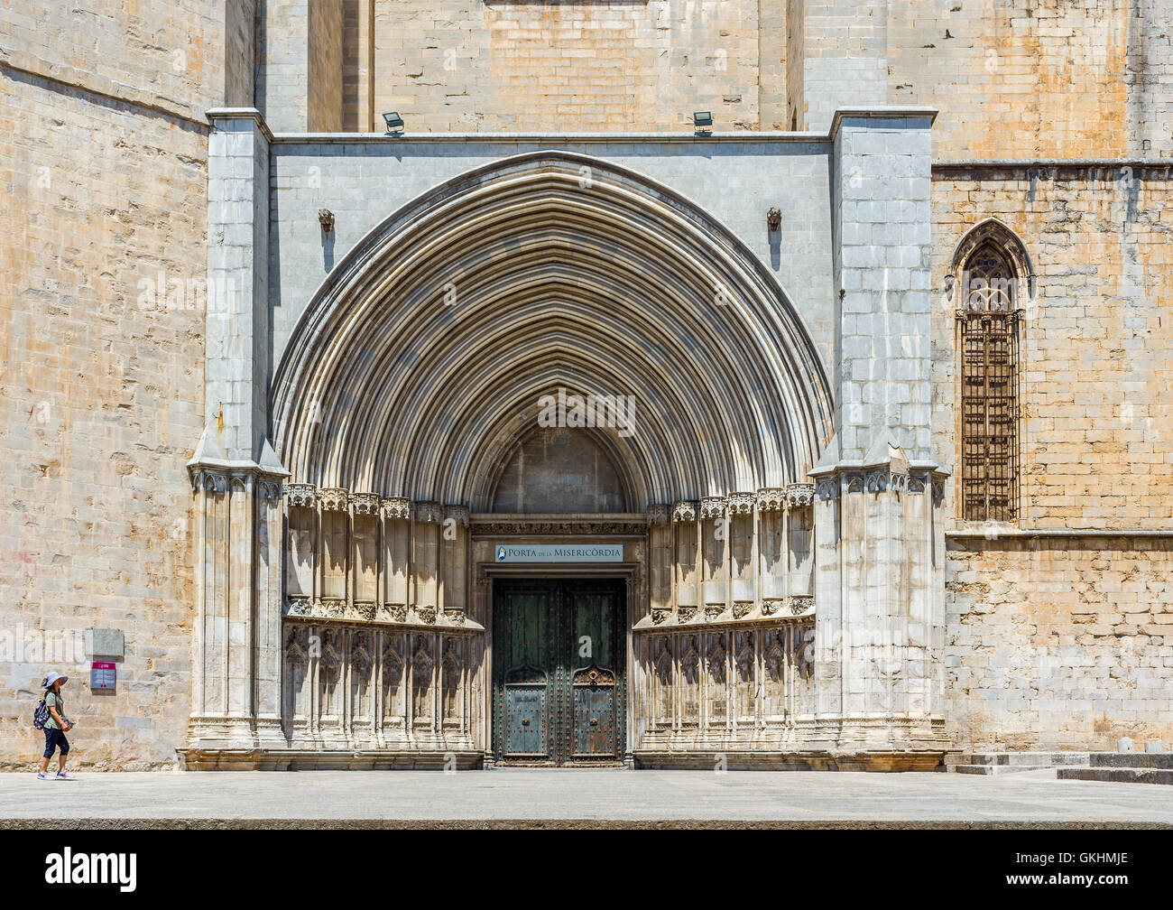
{"label": "pale grey paved ground in front of the cathedral facade", "polygon": [[954,774],[257,771],[0,775],[0,828],[76,827],[1173,828],[1151,784]]}

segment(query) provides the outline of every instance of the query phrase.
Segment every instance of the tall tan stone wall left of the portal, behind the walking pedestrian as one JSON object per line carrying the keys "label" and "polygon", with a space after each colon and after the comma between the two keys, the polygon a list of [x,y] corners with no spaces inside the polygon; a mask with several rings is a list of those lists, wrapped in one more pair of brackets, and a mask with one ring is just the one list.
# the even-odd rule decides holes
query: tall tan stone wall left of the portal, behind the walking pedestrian
{"label": "tall tan stone wall left of the portal, behind the walking pedestrian", "polygon": [[[5,14],[6,768],[43,749],[30,717],[49,669],[70,676],[80,767],[172,766],[191,702],[183,465],[203,425],[208,259],[208,128],[195,117],[223,102],[224,20],[194,2],[87,6]],[[62,633],[95,627],[124,632],[113,695],[91,695],[84,654],[60,649]]]}

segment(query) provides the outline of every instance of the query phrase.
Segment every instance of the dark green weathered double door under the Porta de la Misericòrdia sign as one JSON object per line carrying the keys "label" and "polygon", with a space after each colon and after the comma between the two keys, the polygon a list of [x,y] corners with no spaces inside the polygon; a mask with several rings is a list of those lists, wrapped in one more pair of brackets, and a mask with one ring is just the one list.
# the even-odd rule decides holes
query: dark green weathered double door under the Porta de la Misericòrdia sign
{"label": "dark green weathered double door under the Porta de la Miseric\u00f2rdia sign", "polygon": [[618,761],[626,701],[623,582],[499,580],[493,587],[496,760]]}

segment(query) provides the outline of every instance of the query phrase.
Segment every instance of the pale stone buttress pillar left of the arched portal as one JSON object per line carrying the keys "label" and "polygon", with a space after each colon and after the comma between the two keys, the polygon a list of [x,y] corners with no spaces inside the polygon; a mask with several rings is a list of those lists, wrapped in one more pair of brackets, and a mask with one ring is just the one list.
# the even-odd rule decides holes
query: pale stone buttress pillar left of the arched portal
{"label": "pale stone buttress pillar left of the arched portal", "polygon": [[269,135],[252,109],[209,112],[205,424],[195,497],[189,767],[253,767],[280,748],[280,598],[287,472],[265,437]]}

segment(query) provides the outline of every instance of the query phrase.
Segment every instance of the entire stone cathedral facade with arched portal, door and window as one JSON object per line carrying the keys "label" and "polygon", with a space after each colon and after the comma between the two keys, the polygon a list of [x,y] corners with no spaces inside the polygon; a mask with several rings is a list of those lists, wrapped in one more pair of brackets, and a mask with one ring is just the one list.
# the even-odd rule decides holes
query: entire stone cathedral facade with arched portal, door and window
{"label": "entire stone cathedral facade with arched portal, door and window", "polygon": [[1173,735],[1164,4],[36,6],[9,767]]}

